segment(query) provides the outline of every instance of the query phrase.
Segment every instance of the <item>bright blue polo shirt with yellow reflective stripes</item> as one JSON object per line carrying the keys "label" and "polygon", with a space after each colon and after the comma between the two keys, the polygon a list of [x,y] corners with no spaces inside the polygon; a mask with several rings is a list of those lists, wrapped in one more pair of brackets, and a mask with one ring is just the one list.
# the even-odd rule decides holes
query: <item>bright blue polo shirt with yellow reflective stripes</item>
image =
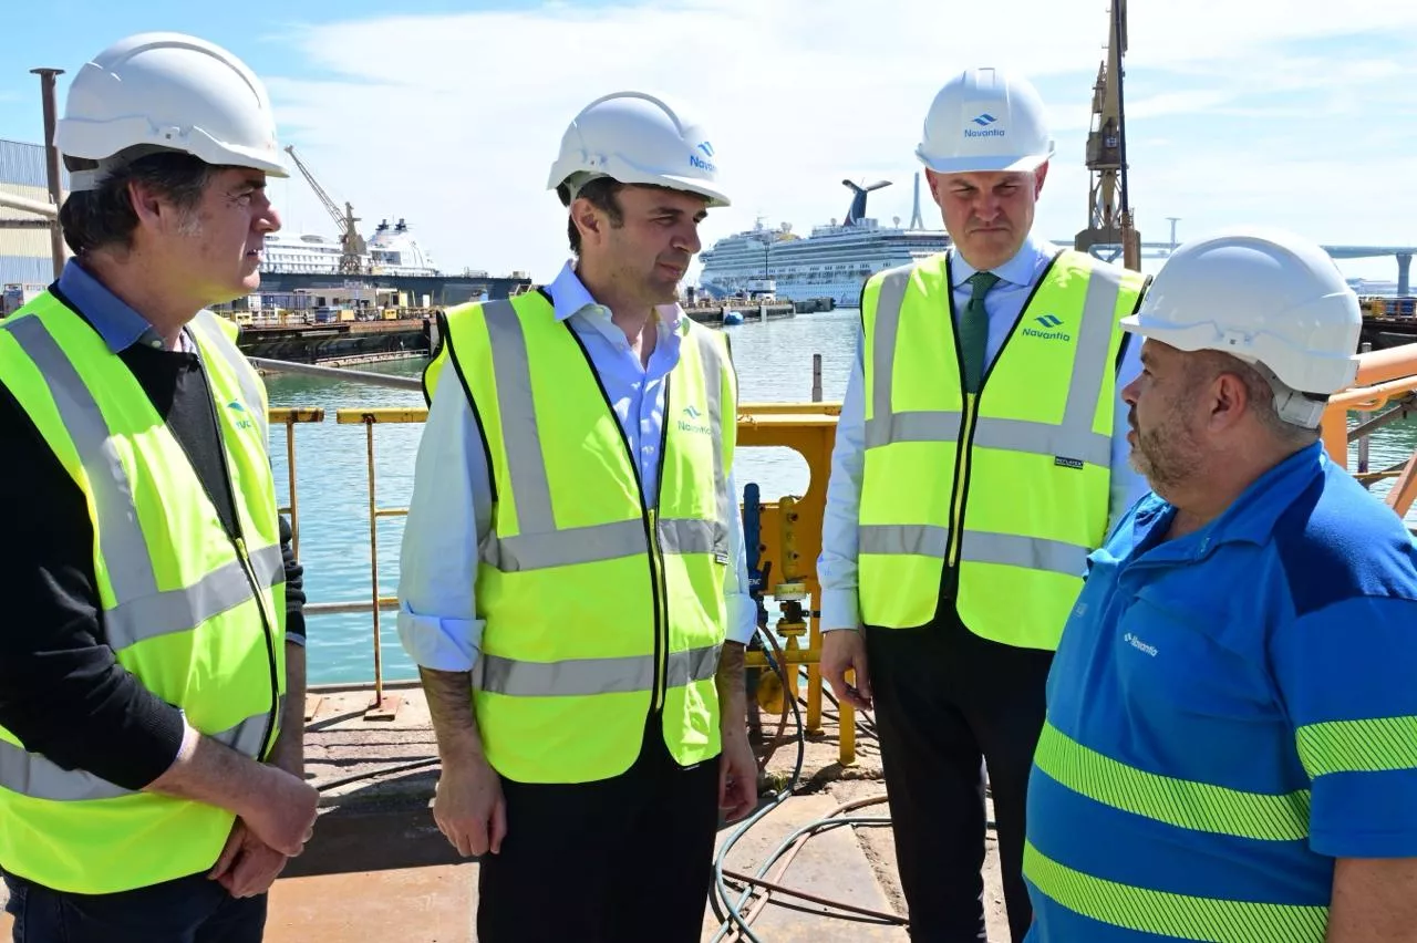
{"label": "bright blue polo shirt with yellow reflective stripes", "polygon": [[1417,549],[1315,443],[1088,561],[1029,782],[1029,943],[1322,943],[1335,858],[1417,855]]}

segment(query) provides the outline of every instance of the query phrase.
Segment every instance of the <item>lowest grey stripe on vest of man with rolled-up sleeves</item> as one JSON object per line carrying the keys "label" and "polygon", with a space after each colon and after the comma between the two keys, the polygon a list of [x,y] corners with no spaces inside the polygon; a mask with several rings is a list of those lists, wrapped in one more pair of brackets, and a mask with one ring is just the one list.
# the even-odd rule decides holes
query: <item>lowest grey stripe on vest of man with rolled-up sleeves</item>
{"label": "lowest grey stripe on vest of man with rolled-up sleeves", "polygon": [[[717,670],[718,646],[670,651],[665,684],[674,688],[707,681]],[[473,663],[472,687],[521,698],[649,691],[655,687],[655,656],[516,661],[483,653]]]}

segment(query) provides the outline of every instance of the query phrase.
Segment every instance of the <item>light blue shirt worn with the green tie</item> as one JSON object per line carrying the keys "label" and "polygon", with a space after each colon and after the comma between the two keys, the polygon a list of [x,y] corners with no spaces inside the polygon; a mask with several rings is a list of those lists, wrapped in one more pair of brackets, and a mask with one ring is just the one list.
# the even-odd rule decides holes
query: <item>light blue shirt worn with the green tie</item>
{"label": "light blue shirt worn with the green tie", "polygon": [[[992,364],[1019,312],[1029,300],[1033,285],[1047,268],[1057,249],[1029,236],[1019,252],[990,269],[999,276],[999,283],[985,295],[983,306],[989,314],[989,338],[985,344],[985,362]],[[969,304],[969,278],[975,269],[955,252],[949,261],[949,275],[954,279],[955,324]],[[1121,401],[1121,388],[1141,372],[1141,343],[1128,336],[1122,361],[1117,371],[1117,416],[1112,423],[1111,494],[1108,498],[1108,532],[1112,525],[1136,503],[1149,486],[1128,463],[1131,446],[1127,445],[1128,406]],[[854,629],[860,624],[860,605],[856,583],[857,513],[862,503],[862,464],[866,447],[866,408],[862,367],[862,336],[857,334],[856,364],[846,382],[846,396],[842,415],[836,423],[836,445],[832,449],[832,477],[826,486],[826,514],[822,521],[822,555],[816,561],[818,579],[822,583],[822,631],[833,629]]]}

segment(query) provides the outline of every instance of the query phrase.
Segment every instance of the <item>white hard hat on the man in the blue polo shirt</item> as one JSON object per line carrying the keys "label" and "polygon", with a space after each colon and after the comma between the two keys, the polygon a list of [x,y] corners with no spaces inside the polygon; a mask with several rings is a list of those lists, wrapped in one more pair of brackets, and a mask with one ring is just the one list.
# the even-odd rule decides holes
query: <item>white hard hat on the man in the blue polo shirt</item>
{"label": "white hard hat on the man in the blue polo shirt", "polygon": [[[1363,314],[1322,248],[1244,227],[1178,248],[1121,326],[1178,350],[1233,354],[1292,391],[1325,396],[1357,377]],[[1322,404],[1312,402],[1292,404],[1289,415],[1281,409],[1309,428],[1319,413]]]}

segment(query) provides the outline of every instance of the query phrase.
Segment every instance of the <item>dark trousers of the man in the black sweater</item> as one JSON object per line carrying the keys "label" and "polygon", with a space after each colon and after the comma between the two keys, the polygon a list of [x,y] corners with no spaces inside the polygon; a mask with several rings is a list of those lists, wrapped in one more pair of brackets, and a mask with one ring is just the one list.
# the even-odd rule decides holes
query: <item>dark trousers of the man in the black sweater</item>
{"label": "dark trousers of the man in the black sweater", "polygon": [[4,876],[14,943],[261,943],[266,895],[232,898],[205,872],[119,893]]}

